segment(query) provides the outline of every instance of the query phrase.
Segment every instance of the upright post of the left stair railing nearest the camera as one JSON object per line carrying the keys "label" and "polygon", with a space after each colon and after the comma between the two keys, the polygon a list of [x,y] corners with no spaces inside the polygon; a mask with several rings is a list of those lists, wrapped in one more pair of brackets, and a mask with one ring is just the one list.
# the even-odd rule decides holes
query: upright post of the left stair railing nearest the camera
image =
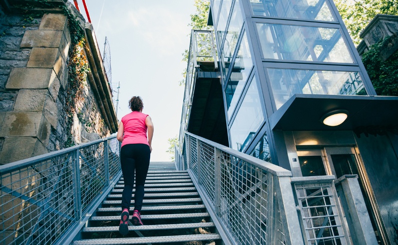
{"label": "upright post of the left stair railing nearest the camera", "polygon": [[82,195],[81,195],[81,186],[80,186],[80,152],[79,149],[76,149],[73,152],[73,195],[75,199],[75,212],[76,212],[76,221],[80,221],[82,218]]}

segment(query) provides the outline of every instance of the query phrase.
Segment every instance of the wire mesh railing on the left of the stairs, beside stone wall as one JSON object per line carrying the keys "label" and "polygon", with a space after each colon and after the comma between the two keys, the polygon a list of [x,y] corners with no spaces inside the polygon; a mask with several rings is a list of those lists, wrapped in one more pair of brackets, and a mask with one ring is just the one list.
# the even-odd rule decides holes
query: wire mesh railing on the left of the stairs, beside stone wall
{"label": "wire mesh railing on the left of the stairs, beside stone wall", "polygon": [[0,244],[57,244],[80,229],[119,161],[113,136],[0,166]]}

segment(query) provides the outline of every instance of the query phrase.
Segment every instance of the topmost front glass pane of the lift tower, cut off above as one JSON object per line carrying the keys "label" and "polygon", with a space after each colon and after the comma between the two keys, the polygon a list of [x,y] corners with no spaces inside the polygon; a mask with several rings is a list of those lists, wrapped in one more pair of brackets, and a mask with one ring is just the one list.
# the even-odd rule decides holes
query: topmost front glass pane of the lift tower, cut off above
{"label": "topmost front glass pane of the lift tower, cut off above", "polygon": [[325,0],[250,0],[250,3],[255,15],[334,21]]}

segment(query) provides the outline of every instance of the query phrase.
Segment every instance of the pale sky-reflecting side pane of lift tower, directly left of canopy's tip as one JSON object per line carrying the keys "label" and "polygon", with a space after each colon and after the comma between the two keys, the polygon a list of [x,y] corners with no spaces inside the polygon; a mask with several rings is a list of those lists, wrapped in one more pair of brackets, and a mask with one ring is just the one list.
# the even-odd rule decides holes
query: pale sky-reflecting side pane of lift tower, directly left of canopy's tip
{"label": "pale sky-reflecting side pane of lift tower, directly left of canopy's tip", "polygon": [[243,152],[263,121],[260,96],[253,77],[230,129],[232,149]]}

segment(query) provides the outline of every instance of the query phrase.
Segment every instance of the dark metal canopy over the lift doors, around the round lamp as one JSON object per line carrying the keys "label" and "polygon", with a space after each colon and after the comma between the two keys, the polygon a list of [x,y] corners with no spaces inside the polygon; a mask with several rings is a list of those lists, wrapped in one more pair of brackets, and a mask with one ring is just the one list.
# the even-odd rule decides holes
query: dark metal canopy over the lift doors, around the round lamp
{"label": "dark metal canopy over the lift doors, around the round lamp", "polygon": [[[320,118],[327,112],[344,109],[348,118],[335,127]],[[398,129],[398,97],[294,94],[269,118],[272,130],[375,130]]]}

